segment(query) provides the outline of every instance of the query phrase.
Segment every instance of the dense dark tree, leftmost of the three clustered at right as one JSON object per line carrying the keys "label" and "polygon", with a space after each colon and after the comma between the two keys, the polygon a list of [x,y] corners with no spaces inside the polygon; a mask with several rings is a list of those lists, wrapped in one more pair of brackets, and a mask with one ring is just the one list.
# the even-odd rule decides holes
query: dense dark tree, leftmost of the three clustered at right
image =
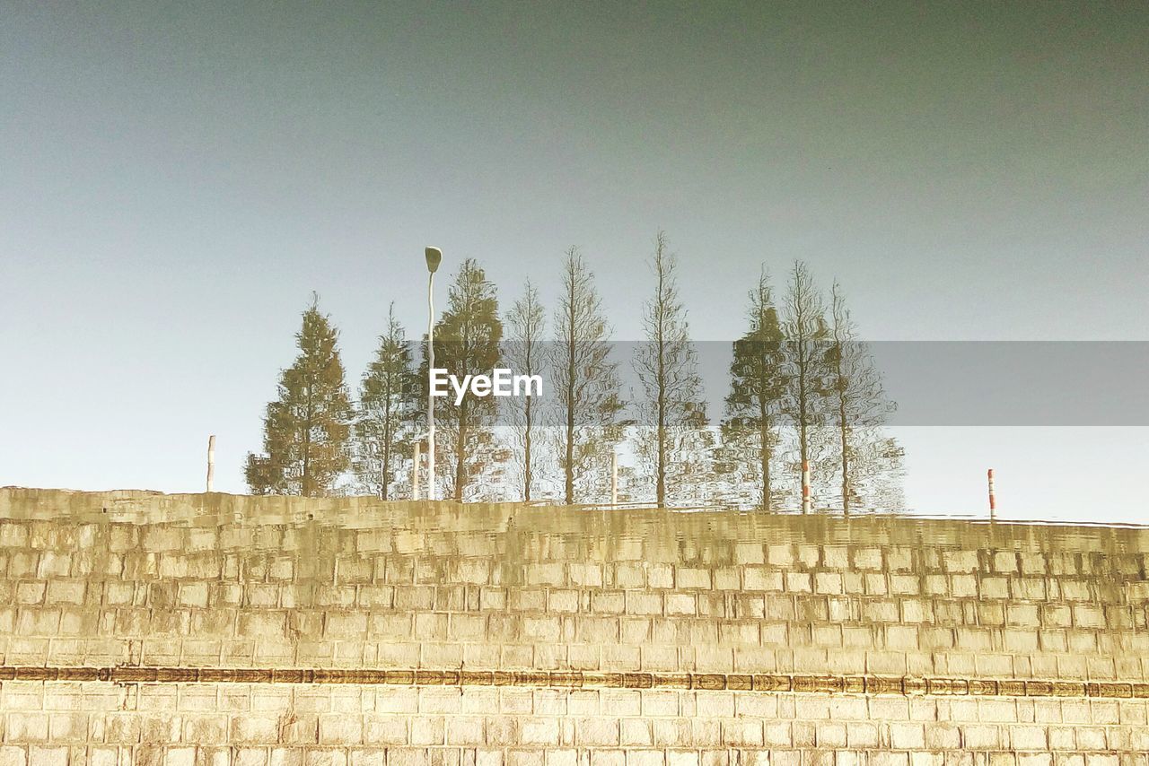
{"label": "dense dark tree, leftmost of the three clustered at right", "polygon": [[786,380],[782,372],[782,331],[763,268],[749,292],[749,331],[734,341],[730,365],[731,392],[723,421],[725,452],[746,466],[759,487],[758,506],[773,510],[771,463],[778,446],[778,420]]}

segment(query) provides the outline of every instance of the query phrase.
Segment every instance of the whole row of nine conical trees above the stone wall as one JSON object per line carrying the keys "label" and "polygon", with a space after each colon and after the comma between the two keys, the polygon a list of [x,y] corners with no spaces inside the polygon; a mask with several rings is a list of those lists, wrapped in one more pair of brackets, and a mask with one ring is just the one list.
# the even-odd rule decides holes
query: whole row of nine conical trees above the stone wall
{"label": "whole row of nine conical trees above the stone wall", "polygon": [[[900,508],[903,451],[882,428],[895,405],[841,286],[824,294],[799,261],[776,300],[763,266],[711,424],[678,258],[664,232],[653,245],[643,336],[625,366],[577,248],[564,255],[549,311],[530,281],[502,311],[483,268],[460,264],[434,327],[435,366],[460,379],[506,366],[542,374],[548,390],[435,399],[440,496],[601,503],[620,455],[620,501],[795,509],[807,466],[819,509]],[[426,436],[426,335],[411,342],[392,305],[354,399],[338,340],[316,296],[296,334],[299,356],[267,407],[263,450],[246,459],[253,494],[402,500],[421,470],[426,486],[425,466],[412,461]]]}

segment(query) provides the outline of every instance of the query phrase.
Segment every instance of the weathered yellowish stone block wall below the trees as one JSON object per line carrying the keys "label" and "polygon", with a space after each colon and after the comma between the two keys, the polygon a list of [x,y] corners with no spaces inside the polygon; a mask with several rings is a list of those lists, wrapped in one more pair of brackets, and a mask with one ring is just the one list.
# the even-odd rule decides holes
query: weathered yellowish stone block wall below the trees
{"label": "weathered yellowish stone block wall below the trees", "polygon": [[3,489],[0,765],[1143,764],[1147,555],[1132,528]]}

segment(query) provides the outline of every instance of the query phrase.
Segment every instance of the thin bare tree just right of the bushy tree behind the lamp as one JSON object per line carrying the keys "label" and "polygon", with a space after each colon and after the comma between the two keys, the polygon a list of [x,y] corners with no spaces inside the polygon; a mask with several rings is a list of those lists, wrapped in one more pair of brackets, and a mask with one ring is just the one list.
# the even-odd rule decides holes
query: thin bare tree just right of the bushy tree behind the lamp
{"label": "thin bare tree just right of the bushy tree behind the lamp", "polygon": [[[527,280],[523,296],[515,301],[507,315],[507,336],[503,343],[503,361],[516,374],[535,376],[545,369],[543,332],[546,314],[539,301],[539,291]],[[523,500],[531,502],[534,485],[534,469],[538,463],[540,427],[542,425],[540,404],[533,396],[510,396],[507,400],[515,426],[512,436],[516,454],[520,456]]]}

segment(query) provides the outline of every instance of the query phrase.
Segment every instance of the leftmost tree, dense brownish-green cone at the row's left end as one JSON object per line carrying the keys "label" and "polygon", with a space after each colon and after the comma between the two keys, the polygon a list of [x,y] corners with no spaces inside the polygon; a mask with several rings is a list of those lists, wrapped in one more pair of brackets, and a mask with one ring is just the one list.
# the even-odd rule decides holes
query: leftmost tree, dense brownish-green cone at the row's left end
{"label": "leftmost tree, dense brownish-green cone at the row's left end", "polygon": [[339,332],[319,299],[303,312],[295,363],[279,378],[279,399],[263,418],[263,455],[247,455],[244,474],[255,495],[331,494],[349,463],[352,405],[339,358]]}

